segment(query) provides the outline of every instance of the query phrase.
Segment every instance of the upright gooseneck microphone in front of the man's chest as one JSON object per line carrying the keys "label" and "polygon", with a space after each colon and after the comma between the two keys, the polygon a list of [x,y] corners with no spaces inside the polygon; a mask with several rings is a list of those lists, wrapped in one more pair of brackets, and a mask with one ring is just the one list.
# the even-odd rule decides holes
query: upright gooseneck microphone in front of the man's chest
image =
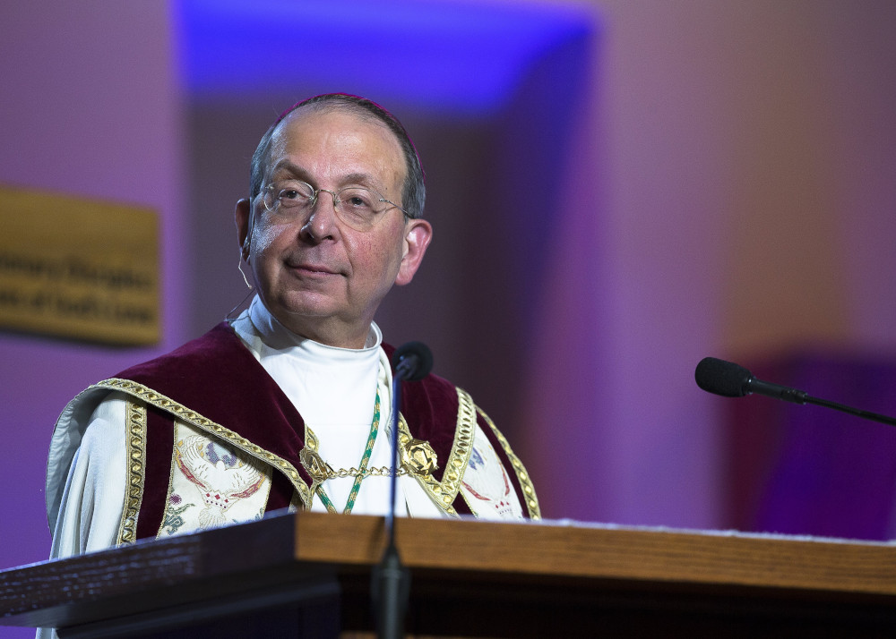
{"label": "upright gooseneck microphone in front of the man's chest", "polygon": [[398,413],[401,409],[401,382],[418,381],[433,369],[433,354],[422,342],[408,342],[392,354],[392,477],[389,510],[386,515],[386,549],[371,575],[377,636],[400,639],[404,636],[404,616],[410,595],[410,573],[401,565],[395,546],[395,495],[398,488]]}

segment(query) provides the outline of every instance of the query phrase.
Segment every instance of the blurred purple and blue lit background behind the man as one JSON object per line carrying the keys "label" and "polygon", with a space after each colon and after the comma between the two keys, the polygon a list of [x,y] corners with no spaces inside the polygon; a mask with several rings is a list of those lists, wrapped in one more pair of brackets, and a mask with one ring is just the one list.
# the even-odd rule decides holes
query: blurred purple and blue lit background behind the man
{"label": "blurred purple and blue lit background behind the man", "polygon": [[0,334],[0,567],[47,556],[66,402],[243,297],[254,145],[331,90],[392,110],[426,168],[435,242],[387,339],[433,347],[545,515],[891,537],[896,430],[693,373],[896,413],[894,32],[887,1],[4,4],[0,183],[157,210],[165,337]]}

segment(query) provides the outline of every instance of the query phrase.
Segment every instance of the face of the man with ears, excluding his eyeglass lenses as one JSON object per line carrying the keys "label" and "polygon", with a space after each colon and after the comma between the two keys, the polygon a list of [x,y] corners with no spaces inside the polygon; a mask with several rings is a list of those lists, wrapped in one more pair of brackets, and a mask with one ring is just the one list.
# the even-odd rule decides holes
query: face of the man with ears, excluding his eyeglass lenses
{"label": "face of the man with ears, excluding his eyeglass lenses", "polygon": [[[401,146],[383,124],[314,107],[280,123],[268,166],[266,183],[292,178],[332,192],[364,186],[399,203],[406,175]],[[392,284],[410,282],[432,236],[427,222],[408,220],[397,208],[367,231],[352,229],[326,193],[304,216],[278,217],[258,196],[240,200],[236,217],[244,255],[273,316],[298,335],[349,348],[364,345],[383,297]]]}

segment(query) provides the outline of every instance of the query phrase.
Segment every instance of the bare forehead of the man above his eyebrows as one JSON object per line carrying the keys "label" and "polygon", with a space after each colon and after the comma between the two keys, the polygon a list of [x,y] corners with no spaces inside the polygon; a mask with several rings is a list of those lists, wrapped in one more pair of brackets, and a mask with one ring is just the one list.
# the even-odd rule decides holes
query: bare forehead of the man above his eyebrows
{"label": "bare forehead of the man above his eyebrows", "polygon": [[287,162],[314,178],[366,174],[390,187],[406,175],[395,134],[374,117],[340,107],[301,107],[283,119],[271,137],[269,166]]}

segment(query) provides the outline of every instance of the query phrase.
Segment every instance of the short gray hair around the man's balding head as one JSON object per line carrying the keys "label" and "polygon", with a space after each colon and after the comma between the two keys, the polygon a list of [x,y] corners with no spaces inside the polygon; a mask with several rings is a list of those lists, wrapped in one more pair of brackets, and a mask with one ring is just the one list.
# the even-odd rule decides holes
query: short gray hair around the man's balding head
{"label": "short gray hair around the man's balding head", "polygon": [[420,164],[420,157],[414,143],[410,141],[408,132],[401,125],[398,118],[386,111],[382,106],[366,98],[358,98],[346,93],[324,93],[314,98],[308,98],[290,106],[280,114],[277,121],[264,133],[252,155],[251,176],[249,183],[249,199],[262,191],[264,177],[267,174],[268,162],[271,159],[271,140],[277,127],[293,111],[303,107],[313,106],[321,111],[329,109],[346,109],[366,118],[375,119],[386,125],[401,145],[404,154],[404,163],[407,168],[404,186],[401,190],[401,206],[408,212],[409,217],[423,217],[423,207],[426,202],[426,175]]}

